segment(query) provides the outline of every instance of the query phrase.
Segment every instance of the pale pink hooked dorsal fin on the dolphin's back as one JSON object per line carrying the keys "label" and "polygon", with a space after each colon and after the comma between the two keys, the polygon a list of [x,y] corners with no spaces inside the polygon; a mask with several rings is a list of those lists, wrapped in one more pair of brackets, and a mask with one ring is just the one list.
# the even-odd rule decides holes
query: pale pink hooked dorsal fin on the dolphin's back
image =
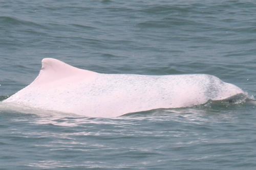
{"label": "pale pink hooked dorsal fin on the dolphin's back", "polygon": [[53,58],[42,59],[42,67],[33,85],[45,84],[72,76],[92,77],[96,72],[71,66],[65,62]]}

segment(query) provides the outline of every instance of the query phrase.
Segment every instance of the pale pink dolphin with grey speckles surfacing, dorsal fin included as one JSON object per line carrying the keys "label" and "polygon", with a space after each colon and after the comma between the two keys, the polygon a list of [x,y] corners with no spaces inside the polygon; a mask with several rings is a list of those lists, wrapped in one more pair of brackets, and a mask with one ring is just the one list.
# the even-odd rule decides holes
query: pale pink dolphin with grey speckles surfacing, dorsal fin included
{"label": "pale pink dolphin with grey speckles surfacing, dorsal fin included", "polygon": [[3,103],[89,117],[191,107],[245,94],[211,75],[100,74],[45,58],[37,78]]}

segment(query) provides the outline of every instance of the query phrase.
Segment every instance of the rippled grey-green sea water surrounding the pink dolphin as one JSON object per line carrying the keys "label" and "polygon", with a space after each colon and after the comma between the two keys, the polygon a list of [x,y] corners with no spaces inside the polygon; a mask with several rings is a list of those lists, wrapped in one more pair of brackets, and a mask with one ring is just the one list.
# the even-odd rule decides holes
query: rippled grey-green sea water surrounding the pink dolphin
{"label": "rippled grey-green sea water surrounding the pink dolphin", "polygon": [[[0,99],[42,58],[115,74],[203,73],[255,95],[253,1],[0,1]],[[106,118],[0,110],[0,169],[254,169],[253,105]]]}

